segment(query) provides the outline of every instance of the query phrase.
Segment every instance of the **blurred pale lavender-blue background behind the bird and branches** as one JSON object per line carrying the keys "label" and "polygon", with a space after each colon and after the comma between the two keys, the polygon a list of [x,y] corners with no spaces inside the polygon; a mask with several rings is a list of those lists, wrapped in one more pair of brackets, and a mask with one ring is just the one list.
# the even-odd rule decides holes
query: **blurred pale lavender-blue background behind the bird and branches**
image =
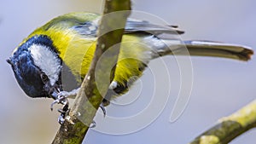
{"label": "blurred pale lavender-blue background behind the bird and branches", "polygon": [[[132,9],[158,15],[185,31],[183,39],[207,39],[228,43],[240,43],[256,48],[256,1],[253,0],[133,0]],[[52,100],[27,97],[16,83],[10,66],[5,61],[23,38],[38,26],[57,15],[74,11],[102,12],[100,0],[0,0],[0,69],[2,83],[0,104],[0,143],[29,144],[50,143],[59,128],[59,113],[50,112]],[[150,21],[150,20],[149,20]],[[166,67],[171,81],[171,93],[160,115],[143,130],[127,135],[108,135],[90,130],[84,139],[89,143],[187,143],[209,129],[218,118],[230,115],[256,97],[256,60],[241,62],[218,58],[193,57],[194,84],[185,111],[177,121],[169,118],[177,99],[180,83],[177,64],[172,56],[166,56]],[[155,75],[161,74],[158,60],[149,65]],[[152,71],[145,72],[137,90],[147,95],[153,86]],[[168,85],[168,84],[163,84]],[[141,88],[141,87],[140,87]],[[138,99],[137,99],[138,100]],[[143,99],[144,101],[148,101]],[[142,104],[144,105],[144,104]],[[161,105],[161,104],[160,104]],[[124,109],[110,106],[112,115],[131,114],[131,107]],[[101,122],[98,122],[98,125]],[[106,125],[105,125],[106,126]],[[108,124],[108,129],[116,127]],[[119,125],[120,126],[120,125]],[[121,125],[129,127],[129,125]],[[255,143],[256,130],[248,131],[232,141],[232,144]]]}

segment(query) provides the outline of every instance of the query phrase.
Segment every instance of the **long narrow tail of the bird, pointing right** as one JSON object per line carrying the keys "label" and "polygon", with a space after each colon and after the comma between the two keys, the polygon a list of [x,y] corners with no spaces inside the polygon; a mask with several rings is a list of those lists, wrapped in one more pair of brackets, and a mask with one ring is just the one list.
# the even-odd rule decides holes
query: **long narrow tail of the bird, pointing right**
{"label": "long narrow tail of the bird, pointing right", "polygon": [[[167,40],[170,41],[170,40]],[[253,49],[233,43],[191,40],[183,43],[170,43],[169,49],[160,49],[158,55],[189,55],[223,57],[235,60],[250,60]],[[172,49],[174,48],[174,49]]]}

